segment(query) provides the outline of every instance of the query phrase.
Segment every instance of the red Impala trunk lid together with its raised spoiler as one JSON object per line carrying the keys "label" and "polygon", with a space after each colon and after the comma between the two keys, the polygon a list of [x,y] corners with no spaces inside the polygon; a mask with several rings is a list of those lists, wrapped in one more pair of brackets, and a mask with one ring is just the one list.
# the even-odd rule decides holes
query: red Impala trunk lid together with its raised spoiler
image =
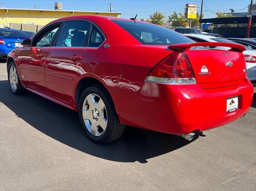
{"label": "red Impala trunk lid together with its raised spoiler", "polygon": [[[193,45],[195,44],[195,45]],[[216,88],[240,83],[246,77],[246,63],[241,45],[230,43],[193,43],[173,45],[168,48],[184,50],[188,55],[196,82],[202,88]],[[194,49],[194,46],[224,46],[230,50]]]}

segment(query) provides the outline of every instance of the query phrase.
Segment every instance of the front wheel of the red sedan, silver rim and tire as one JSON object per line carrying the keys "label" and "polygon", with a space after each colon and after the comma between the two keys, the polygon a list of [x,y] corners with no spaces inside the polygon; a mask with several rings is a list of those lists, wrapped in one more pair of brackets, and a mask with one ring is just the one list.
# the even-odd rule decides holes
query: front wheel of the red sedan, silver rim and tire
{"label": "front wheel of the red sedan, silver rim and tire", "polygon": [[11,61],[7,68],[8,71],[8,83],[10,90],[15,95],[20,95],[26,90],[20,83],[19,74],[14,61]]}

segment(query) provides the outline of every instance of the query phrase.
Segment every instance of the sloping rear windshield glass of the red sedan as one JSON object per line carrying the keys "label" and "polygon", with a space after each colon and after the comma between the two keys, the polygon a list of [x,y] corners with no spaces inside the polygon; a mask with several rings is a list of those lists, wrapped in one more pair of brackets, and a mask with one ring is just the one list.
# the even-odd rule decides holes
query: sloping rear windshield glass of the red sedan
{"label": "sloping rear windshield glass of the red sedan", "polygon": [[178,43],[191,43],[194,42],[188,37],[181,35],[168,28],[148,24],[143,22],[133,22],[124,20],[112,20],[120,27],[124,28],[133,37],[135,37],[142,44],[150,45],[171,45]]}

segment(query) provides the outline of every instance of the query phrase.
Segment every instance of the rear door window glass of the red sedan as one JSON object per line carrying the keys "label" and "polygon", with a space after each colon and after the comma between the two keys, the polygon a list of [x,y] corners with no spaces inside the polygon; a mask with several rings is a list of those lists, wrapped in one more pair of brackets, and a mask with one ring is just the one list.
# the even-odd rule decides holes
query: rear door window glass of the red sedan
{"label": "rear door window glass of the red sedan", "polygon": [[56,47],[86,47],[90,28],[89,22],[67,22],[60,32]]}

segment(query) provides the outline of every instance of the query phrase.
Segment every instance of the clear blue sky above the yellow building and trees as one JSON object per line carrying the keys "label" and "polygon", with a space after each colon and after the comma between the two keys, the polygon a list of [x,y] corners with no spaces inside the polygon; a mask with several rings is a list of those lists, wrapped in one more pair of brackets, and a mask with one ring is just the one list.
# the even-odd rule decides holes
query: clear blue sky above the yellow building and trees
{"label": "clear blue sky above the yellow building and trees", "polygon": [[[138,13],[137,18],[149,18],[155,11],[164,13],[165,19],[168,15],[176,12],[184,12],[186,3],[198,4],[199,11],[201,0],[1,0],[6,8],[36,8],[54,9],[54,2],[62,2],[64,10],[83,11],[109,11],[109,3],[113,5],[113,12],[122,12],[122,18],[130,18]],[[255,0],[254,0],[255,2]],[[216,11],[229,12],[232,8],[236,12],[246,12],[250,0],[204,0],[204,18],[216,17]],[[245,8],[245,9],[244,9]],[[244,9],[244,10],[242,10]],[[129,11],[128,11],[129,10]]]}

